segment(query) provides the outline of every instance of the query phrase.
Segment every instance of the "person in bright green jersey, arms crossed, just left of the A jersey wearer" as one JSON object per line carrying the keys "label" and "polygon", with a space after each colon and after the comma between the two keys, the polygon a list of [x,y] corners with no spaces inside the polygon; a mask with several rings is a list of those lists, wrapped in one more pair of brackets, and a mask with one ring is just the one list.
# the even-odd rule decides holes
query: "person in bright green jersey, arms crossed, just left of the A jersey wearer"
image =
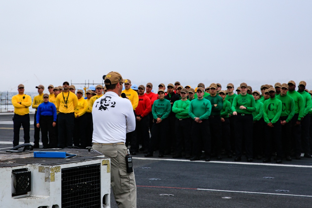
{"label": "person in bright green jersey, arms crossed, just left of the A jersey wearer", "polygon": [[[178,87],[179,88],[179,87]],[[172,111],[175,113],[175,133],[176,133],[176,149],[173,158],[182,157],[182,149],[185,147],[185,159],[191,158],[191,132],[189,130],[192,125],[192,119],[188,115],[188,108],[190,102],[188,100],[188,90],[185,88],[181,89],[180,95],[182,99],[177,100],[173,103]]]}

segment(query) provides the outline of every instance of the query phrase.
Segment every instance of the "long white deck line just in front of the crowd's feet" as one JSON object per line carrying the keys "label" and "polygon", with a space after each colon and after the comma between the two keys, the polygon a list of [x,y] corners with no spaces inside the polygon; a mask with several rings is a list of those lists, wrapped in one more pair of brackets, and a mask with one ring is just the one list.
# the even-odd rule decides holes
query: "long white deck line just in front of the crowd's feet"
{"label": "long white deck line just in front of the crowd's feet", "polygon": [[[180,161],[180,162],[205,162],[203,160],[190,161],[190,160],[178,160],[178,159],[160,159],[160,158],[145,158],[145,157],[132,157],[138,160],[165,160],[165,161]],[[288,165],[288,164],[272,164],[272,163],[256,163],[256,162],[226,162],[226,161],[210,161],[205,163],[224,163],[224,164],[240,164],[240,165],[264,165],[264,166],[277,166],[277,167],[308,167],[312,168],[312,165]]]}

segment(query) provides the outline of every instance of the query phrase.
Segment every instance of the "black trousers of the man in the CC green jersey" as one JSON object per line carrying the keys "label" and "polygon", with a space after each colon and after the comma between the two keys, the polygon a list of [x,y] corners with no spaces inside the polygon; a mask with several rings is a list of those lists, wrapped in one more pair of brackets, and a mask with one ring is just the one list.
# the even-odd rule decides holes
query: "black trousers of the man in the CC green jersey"
{"label": "black trousers of the man in the CC green jersey", "polygon": [[266,135],[266,150],[265,155],[266,158],[271,159],[272,154],[272,146],[275,144],[276,148],[276,159],[283,158],[283,150],[282,150],[282,140],[281,140],[281,124],[280,119],[273,123],[274,127],[269,127],[268,125],[264,128],[264,133]]}

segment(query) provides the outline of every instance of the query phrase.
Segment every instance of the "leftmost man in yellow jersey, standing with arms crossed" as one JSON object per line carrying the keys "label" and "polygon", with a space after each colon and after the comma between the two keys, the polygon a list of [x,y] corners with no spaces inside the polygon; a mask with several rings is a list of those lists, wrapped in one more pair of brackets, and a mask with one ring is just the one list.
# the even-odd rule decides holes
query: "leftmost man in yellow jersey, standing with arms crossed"
{"label": "leftmost man in yellow jersey, standing with arms crossed", "polygon": [[12,97],[12,105],[14,106],[13,116],[13,147],[19,143],[19,131],[21,125],[24,129],[24,142],[30,142],[30,118],[29,118],[29,106],[32,105],[32,98],[24,94],[24,85],[18,85],[18,94]]}

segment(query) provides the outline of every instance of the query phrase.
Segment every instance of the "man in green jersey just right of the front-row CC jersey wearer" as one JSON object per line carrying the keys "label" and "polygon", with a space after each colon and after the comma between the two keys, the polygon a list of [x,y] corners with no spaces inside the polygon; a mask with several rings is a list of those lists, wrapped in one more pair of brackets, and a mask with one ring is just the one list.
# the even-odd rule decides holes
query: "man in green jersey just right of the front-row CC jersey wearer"
{"label": "man in green jersey just right of the front-row CC jersey wearer", "polygon": [[295,115],[295,101],[287,94],[288,85],[286,83],[283,83],[280,89],[280,94],[276,96],[276,99],[282,101],[280,114],[282,150],[286,160],[291,161],[291,119]]}

